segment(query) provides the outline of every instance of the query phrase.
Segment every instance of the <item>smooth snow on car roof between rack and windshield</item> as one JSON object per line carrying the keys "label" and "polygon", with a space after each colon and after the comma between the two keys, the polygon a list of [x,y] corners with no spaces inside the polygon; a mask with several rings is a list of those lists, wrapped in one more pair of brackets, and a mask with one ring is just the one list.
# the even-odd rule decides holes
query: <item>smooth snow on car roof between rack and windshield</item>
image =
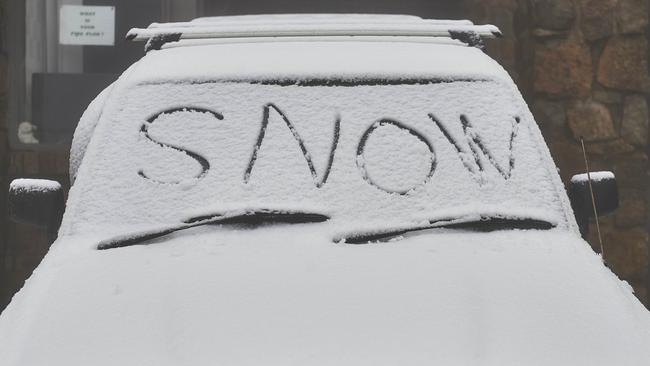
{"label": "smooth snow on car roof between rack and windshield", "polygon": [[501,79],[511,83],[503,67],[477,48],[385,38],[167,48],[149,52],[129,76],[137,83],[310,78]]}

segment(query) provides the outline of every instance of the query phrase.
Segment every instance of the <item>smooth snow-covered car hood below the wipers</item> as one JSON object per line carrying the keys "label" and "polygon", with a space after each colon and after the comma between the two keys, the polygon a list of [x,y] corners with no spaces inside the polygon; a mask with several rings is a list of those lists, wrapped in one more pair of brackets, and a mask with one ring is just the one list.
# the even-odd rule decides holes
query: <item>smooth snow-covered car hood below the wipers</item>
{"label": "smooth snow-covered car hood below the wipers", "polygon": [[650,315],[573,233],[350,245],[309,225],[60,239],[0,317],[3,365],[641,365]]}

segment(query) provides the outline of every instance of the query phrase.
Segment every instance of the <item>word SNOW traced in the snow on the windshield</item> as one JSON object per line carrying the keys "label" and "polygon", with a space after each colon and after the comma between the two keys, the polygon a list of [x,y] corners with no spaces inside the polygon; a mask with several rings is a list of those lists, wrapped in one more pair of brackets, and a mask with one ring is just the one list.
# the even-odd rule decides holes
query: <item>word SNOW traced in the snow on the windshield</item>
{"label": "word SNOW traced in the snow on the windshield", "polygon": [[[156,122],[156,120],[159,117],[163,115],[173,115],[176,113],[184,113],[184,112],[207,113],[213,116],[217,120],[224,119],[223,114],[205,108],[197,108],[197,107],[170,108],[162,112],[158,112],[154,114],[152,117],[148,118],[147,121],[144,124],[142,124],[140,128],[140,133],[146,140],[150,141],[151,143],[154,143],[163,148],[170,148],[180,153],[184,153],[191,159],[195,160],[201,166],[201,170],[194,177],[191,177],[191,179],[201,179],[207,174],[208,170],[210,169],[210,162],[208,161],[207,158],[187,148],[180,147],[170,143],[163,143],[157,141],[149,134],[149,128],[151,127],[152,124]],[[271,113],[276,113],[277,115],[279,115],[286,128],[291,132],[291,135],[293,136],[293,139],[295,140],[297,147],[300,149],[304,161],[307,165],[307,168],[309,169],[309,172],[313,178],[314,185],[317,188],[323,187],[327,183],[327,179],[332,170],[334,157],[336,155],[336,151],[338,148],[340,130],[341,130],[340,128],[341,118],[337,116],[334,120],[332,142],[329,149],[329,157],[324,172],[321,173],[319,176],[314,166],[312,154],[305,146],[305,143],[303,139],[300,137],[300,134],[296,129],[295,125],[291,122],[289,117],[287,117],[287,114],[273,103],[267,103],[266,105],[263,106],[261,127],[255,145],[253,146],[252,154],[247,164],[246,170],[242,176],[242,182],[247,184],[254,173],[255,164],[259,159],[260,148],[264,144],[264,140],[266,137],[266,130],[269,126],[269,121],[271,120],[270,118]],[[511,121],[511,130],[509,133],[508,141],[506,142],[508,144],[509,155],[508,155],[507,162],[505,164],[499,163],[497,161],[494,153],[486,146],[486,144],[483,141],[483,138],[476,130],[476,128],[472,125],[472,123],[470,122],[467,116],[463,114],[459,116],[459,120],[462,126],[462,132],[463,132],[462,137],[453,136],[450,133],[450,129],[445,124],[443,124],[438,118],[436,118],[433,114],[431,113],[428,114],[428,117],[435,124],[435,126],[440,130],[440,132],[445,136],[446,140],[454,147],[460,161],[462,162],[466,170],[479,183],[485,180],[483,173],[486,171],[486,169],[488,169],[488,166],[494,168],[505,180],[508,180],[512,176],[512,172],[515,167],[513,146],[515,143],[515,139],[517,137],[518,127],[520,123],[520,119],[518,117],[515,117]],[[401,133],[402,136],[408,136],[408,138],[412,139],[414,144],[421,144],[425,147],[425,149],[422,149],[422,151],[425,154],[429,155],[427,160],[428,167],[426,169],[426,172],[423,174],[424,175],[423,178],[420,180],[418,184],[414,184],[407,188],[393,189],[393,188],[385,187],[382,184],[376,182],[372,174],[368,174],[367,166],[366,166],[366,161],[367,161],[366,146],[370,138],[374,134],[378,133],[378,131],[382,127],[391,127],[392,128],[391,131],[393,131],[391,133],[395,134],[396,138],[397,138],[397,134]],[[387,119],[387,118],[380,119],[377,122],[373,123],[370,127],[368,127],[361,135],[361,138],[357,143],[356,151],[357,151],[356,165],[358,167],[359,174],[361,175],[361,177],[371,186],[374,186],[377,189],[380,189],[387,193],[407,194],[413,191],[418,186],[427,184],[431,180],[431,177],[433,176],[436,170],[436,156],[434,153],[435,150],[430,140],[422,133],[418,132],[416,129],[409,127],[406,124],[403,124],[400,121],[394,119]],[[148,176],[142,169],[138,171],[138,174],[142,178],[149,179],[157,183],[180,183],[180,181],[169,182],[169,181],[157,180],[155,178]]]}

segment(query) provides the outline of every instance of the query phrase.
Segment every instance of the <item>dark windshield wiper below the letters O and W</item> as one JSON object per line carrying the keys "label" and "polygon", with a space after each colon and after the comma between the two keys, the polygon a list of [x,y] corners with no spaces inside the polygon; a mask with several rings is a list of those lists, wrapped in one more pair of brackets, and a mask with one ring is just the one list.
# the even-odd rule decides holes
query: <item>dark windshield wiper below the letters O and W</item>
{"label": "dark windshield wiper below the letters O and W", "polygon": [[549,230],[556,225],[534,218],[505,218],[494,216],[480,216],[479,218],[454,218],[430,220],[427,224],[412,227],[400,227],[389,230],[370,231],[365,233],[353,233],[334,239],[335,242],[346,244],[368,244],[373,242],[386,242],[398,238],[401,235],[424,231],[436,228],[445,229],[466,229],[479,232],[497,230],[521,229],[521,230]]}

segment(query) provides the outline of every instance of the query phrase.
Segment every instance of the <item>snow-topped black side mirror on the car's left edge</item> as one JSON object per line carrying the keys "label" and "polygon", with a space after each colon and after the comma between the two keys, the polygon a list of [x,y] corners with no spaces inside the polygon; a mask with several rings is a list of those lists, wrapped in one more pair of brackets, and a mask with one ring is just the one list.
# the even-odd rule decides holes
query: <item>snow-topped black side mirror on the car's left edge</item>
{"label": "snow-topped black side mirror on the car's left edge", "polygon": [[47,179],[14,179],[9,185],[9,217],[55,233],[63,217],[63,189]]}

